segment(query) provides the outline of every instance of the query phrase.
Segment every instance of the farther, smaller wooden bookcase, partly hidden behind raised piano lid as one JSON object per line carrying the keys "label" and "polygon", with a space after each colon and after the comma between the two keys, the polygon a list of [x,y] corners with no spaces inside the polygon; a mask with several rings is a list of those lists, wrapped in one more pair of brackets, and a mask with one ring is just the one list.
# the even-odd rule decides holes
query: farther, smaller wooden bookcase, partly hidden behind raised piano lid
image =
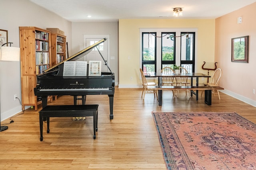
{"label": "farther, smaller wooden bookcase, partly hidden behind raised piano lid", "polygon": [[52,66],[66,59],[66,36],[51,33]]}

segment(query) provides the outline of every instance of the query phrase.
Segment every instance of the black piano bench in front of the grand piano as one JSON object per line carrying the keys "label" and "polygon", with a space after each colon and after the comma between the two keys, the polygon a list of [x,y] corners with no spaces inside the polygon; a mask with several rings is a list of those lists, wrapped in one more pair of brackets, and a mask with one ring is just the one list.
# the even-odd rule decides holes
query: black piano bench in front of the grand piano
{"label": "black piano bench in front of the grand piano", "polygon": [[85,117],[93,116],[93,139],[96,139],[96,131],[98,131],[98,106],[95,105],[53,105],[46,106],[39,111],[40,123],[40,141],[43,141],[43,122],[44,117],[47,121],[47,133],[50,133],[50,117]]}

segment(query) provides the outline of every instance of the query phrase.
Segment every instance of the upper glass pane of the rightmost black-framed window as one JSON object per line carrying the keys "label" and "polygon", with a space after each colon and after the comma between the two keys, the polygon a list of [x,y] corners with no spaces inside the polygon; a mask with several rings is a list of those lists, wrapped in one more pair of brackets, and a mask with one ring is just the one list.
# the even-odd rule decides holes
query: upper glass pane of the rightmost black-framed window
{"label": "upper glass pane of the rightmost black-framed window", "polygon": [[193,45],[194,45],[194,34],[193,33],[182,33],[181,37],[181,60],[192,61],[193,60]]}

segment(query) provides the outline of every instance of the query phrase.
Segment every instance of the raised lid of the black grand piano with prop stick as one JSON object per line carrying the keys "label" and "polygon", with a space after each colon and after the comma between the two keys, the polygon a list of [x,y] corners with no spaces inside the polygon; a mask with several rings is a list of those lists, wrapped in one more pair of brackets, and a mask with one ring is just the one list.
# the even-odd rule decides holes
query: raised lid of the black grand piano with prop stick
{"label": "raised lid of the black grand piano with prop stick", "polygon": [[[106,40],[107,40],[107,39],[104,38],[104,39],[98,41],[97,43],[95,43],[95,44],[93,44],[93,45],[90,45],[89,47],[86,47],[86,48],[83,49],[82,51],[79,51],[78,53],[72,55],[71,57],[68,57],[68,58],[65,59],[64,61],[62,61],[62,62],[60,62],[60,63],[58,63],[58,64],[55,64],[54,66],[48,68],[47,70],[44,70],[44,72],[43,72],[42,74],[38,74],[38,76],[43,75],[43,74],[46,74],[47,72],[54,71],[54,69],[58,69],[58,66],[59,66],[60,64],[63,64],[65,61],[75,61],[75,60],[77,60],[77,59],[80,59],[81,57],[83,57],[82,54],[86,55],[86,54],[90,53],[90,52],[92,51],[92,49],[94,49],[96,46],[100,45],[101,43],[103,43],[103,42],[106,41]],[[97,49],[98,49],[98,48],[97,48]],[[100,52],[100,51],[99,51],[99,52]],[[100,54],[100,55],[101,55],[101,54]],[[102,55],[101,55],[101,57],[102,57]],[[102,58],[103,58],[103,57],[102,57]],[[103,58],[103,61],[105,61],[104,58]],[[109,67],[108,67],[108,68],[109,68]],[[111,70],[110,70],[110,72],[111,72]],[[111,72],[111,74],[112,74],[112,72]]]}

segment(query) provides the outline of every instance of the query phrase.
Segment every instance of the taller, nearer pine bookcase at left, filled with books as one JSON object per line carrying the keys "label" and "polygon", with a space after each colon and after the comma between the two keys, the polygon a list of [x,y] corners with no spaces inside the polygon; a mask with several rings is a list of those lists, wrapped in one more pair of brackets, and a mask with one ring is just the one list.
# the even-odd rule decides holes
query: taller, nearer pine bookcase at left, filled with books
{"label": "taller, nearer pine bookcase at left, filled with books", "polygon": [[37,110],[42,101],[34,95],[36,75],[52,66],[51,31],[38,27],[19,27],[19,29],[22,105],[34,106]]}

